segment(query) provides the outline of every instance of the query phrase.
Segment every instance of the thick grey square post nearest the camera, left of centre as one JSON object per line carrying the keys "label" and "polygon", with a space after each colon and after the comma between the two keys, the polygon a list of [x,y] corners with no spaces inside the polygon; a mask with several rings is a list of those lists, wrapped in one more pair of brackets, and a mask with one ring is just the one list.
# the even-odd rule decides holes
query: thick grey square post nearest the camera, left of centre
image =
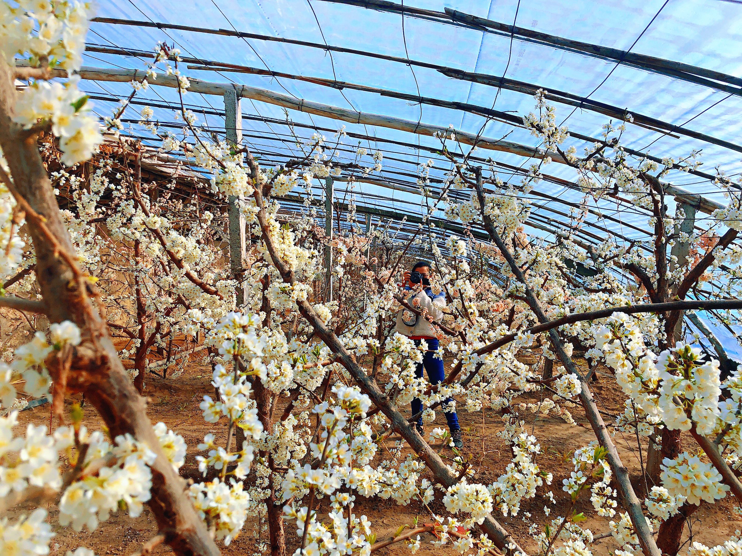
{"label": "thick grey square post nearest the camera, left of centre", "polygon": [[[224,91],[224,127],[227,142],[239,148],[242,143],[242,99],[237,90]],[[246,288],[243,282],[243,258],[245,257],[245,217],[237,207],[239,197],[229,196],[229,271],[237,280],[236,304],[247,302]]]}

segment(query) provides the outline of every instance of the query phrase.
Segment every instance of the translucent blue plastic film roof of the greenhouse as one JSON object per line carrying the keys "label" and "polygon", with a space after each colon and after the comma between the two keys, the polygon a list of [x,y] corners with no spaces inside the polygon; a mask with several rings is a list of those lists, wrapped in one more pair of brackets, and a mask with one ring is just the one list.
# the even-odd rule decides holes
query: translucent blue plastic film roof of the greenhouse
{"label": "translucent blue plastic film roof of the greenhouse", "polygon": [[[355,5],[355,4],[366,4]],[[391,4],[388,5],[388,4]],[[378,7],[378,6],[377,6]],[[424,8],[443,17],[418,13],[399,13],[404,7]],[[651,70],[622,63],[621,59],[605,59],[551,44],[534,42],[518,33],[473,27],[446,19],[445,11],[459,10],[480,18],[499,21],[507,26],[536,30],[565,39],[597,44],[603,47],[655,56],[674,62],[692,64],[736,76],[741,27],[735,24],[742,6],[732,1],[612,1],[545,2],[529,1],[418,1],[410,4],[382,2],[382,10],[368,7],[363,1],[228,1],[200,0],[171,3],[141,0],[102,1],[97,15],[100,19],[139,21],[149,24],[93,22],[88,34],[90,51],[84,64],[92,67],[119,67],[142,70],[145,56],[122,56],[99,50],[129,49],[153,52],[157,42],[168,42],[180,48],[181,56],[291,74],[347,82],[365,87],[378,87],[413,96],[476,105],[522,117],[534,109],[532,94],[485,85],[465,79],[453,79],[432,67],[433,64],[454,70],[505,77],[548,91],[605,103],[626,113],[641,114],[679,126],[683,130],[703,133],[718,142],[742,143],[739,138],[738,114],[742,111],[742,90],[737,85],[725,85],[726,90],[700,85],[663,75]],[[414,10],[413,10],[414,11]],[[162,28],[151,26],[153,22]],[[267,37],[309,42],[318,47],[287,44],[245,36],[225,36],[197,30],[177,30],[168,25],[185,25],[204,30],[228,30]],[[321,45],[358,50],[364,53],[395,56],[413,63],[364,56],[361,53],[327,51]],[[98,51],[95,51],[98,50]],[[419,64],[422,62],[423,64]],[[188,69],[188,65],[191,69]],[[198,64],[196,64],[198,65]],[[194,64],[182,62],[180,69],[190,78],[223,84],[249,85],[283,93],[296,99],[321,102],[324,105],[358,110],[363,113],[394,116],[410,122],[437,125],[456,130],[482,133],[490,139],[538,146],[538,140],[525,128],[487,119],[484,116],[450,107],[410,102],[382,96],[379,93],[352,88],[326,87],[298,79],[263,76],[234,71],[192,69]],[[127,83],[83,82],[83,87],[96,103],[96,111],[108,116],[115,103],[131,93]],[[721,87],[723,88],[723,87]],[[731,92],[729,92],[731,90]],[[149,87],[137,93],[136,101],[125,118],[135,120],[142,104],[154,108],[154,119],[160,124],[182,125],[174,117],[180,106],[177,90]],[[199,116],[199,124],[223,133],[223,99],[219,96],[188,93],[184,102]],[[562,120],[571,133],[599,137],[610,116],[589,110],[585,106],[554,103],[557,122]],[[176,109],[176,110],[174,110]],[[249,99],[242,101],[243,142],[260,156],[264,165],[286,162],[297,155],[295,139],[286,125],[283,107]],[[430,171],[431,187],[435,191],[450,162],[436,154],[439,139],[431,136],[380,126],[358,125],[323,116],[289,110],[288,118],[295,123],[295,133],[309,138],[314,130],[328,137],[345,126],[352,137],[346,139],[347,150],[341,160],[351,162],[354,147],[384,151],[384,168],[370,177],[383,185],[360,182],[355,185],[359,212],[364,207],[382,208],[398,214],[421,215],[425,203],[417,191],[418,165],[433,159]],[[617,122],[616,118],[612,118]],[[130,120],[131,121],[131,120]],[[620,122],[617,122],[620,123]],[[702,152],[702,170],[715,173],[720,166],[727,175],[740,170],[741,153],[735,148],[688,136],[682,130],[656,130],[646,126],[627,125],[623,145],[652,156],[678,156],[692,150]],[[151,137],[148,144],[160,139],[133,123],[125,130],[141,137]],[[363,139],[357,139],[362,137]],[[578,153],[588,145],[574,136],[567,145],[575,145]],[[566,145],[565,145],[566,146]],[[467,152],[467,145],[461,145]],[[500,175],[503,181],[517,183],[514,169],[527,170],[534,159],[499,150],[479,148],[476,156],[484,162],[492,158],[506,167]],[[538,226],[531,233],[548,237],[544,230],[568,228],[570,209],[580,203],[583,193],[568,185],[576,174],[565,165],[553,163],[542,170],[554,179],[545,179],[531,193],[533,211],[528,223]],[[566,180],[566,181],[564,181]],[[681,172],[671,172],[667,180],[687,191],[726,204],[720,190],[709,179]],[[436,181],[438,182],[436,184]],[[566,185],[565,185],[566,184]],[[320,184],[318,183],[318,187]],[[346,184],[335,185],[342,196]],[[401,191],[402,190],[402,191]],[[459,193],[459,192],[455,192]],[[460,193],[459,193],[460,194]],[[668,197],[672,199],[672,197]],[[626,239],[646,239],[648,213],[631,205],[617,205],[614,200],[591,202],[594,208],[585,219],[577,236],[583,241],[597,242],[611,234]],[[623,209],[619,211],[619,208]],[[442,211],[436,218],[444,219]],[[708,215],[699,214],[697,225],[704,226]],[[553,236],[550,236],[553,239]]]}

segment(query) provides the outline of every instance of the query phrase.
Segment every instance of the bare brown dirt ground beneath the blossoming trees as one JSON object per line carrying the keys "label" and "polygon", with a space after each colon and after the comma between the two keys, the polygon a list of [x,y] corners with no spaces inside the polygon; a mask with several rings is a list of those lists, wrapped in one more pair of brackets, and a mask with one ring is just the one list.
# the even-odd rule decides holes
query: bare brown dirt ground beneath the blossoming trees
{"label": "bare brown dirt ground beneath the blossoming trees", "polygon": [[[200,480],[197,473],[195,456],[199,454],[197,444],[203,440],[204,434],[213,432],[217,435],[226,434],[225,427],[216,424],[206,423],[201,417],[201,411],[198,408],[204,394],[211,394],[213,387],[210,381],[209,368],[197,363],[191,363],[183,374],[175,379],[162,380],[159,377],[150,375],[146,386],[146,394],[149,398],[149,417],[153,423],[163,421],[182,434],[185,442],[188,444],[188,456],[182,474],[191,477],[194,480]],[[610,385],[612,383],[612,386]],[[611,414],[620,411],[620,402],[623,400],[623,394],[619,394],[615,381],[608,377],[601,377],[600,383],[594,385],[594,394],[597,397],[600,407]],[[524,400],[534,401],[534,400]],[[406,408],[409,411],[409,408]],[[568,506],[568,496],[562,491],[562,479],[568,476],[571,470],[568,464],[562,461],[564,454],[584,446],[590,440],[594,440],[594,434],[585,420],[582,410],[577,406],[570,408],[577,426],[569,426],[558,418],[534,418],[528,422],[529,432],[532,431],[541,444],[542,455],[537,457],[537,463],[545,471],[554,473],[554,481],[551,486],[539,487],[535,499],[523,500],[521,514],[516,517],[502,515],[496,516],[506,529],[522,543],[524,549],[533,553],[535,543],[528,535],[528,524],[524,523],[523,514],[531,512],[533,519],[537,523],[547,523],[554,517],[559,516]],[[480,411],[476,413],[467,413],[459,411],[459,420],[464,431],[464,454],[471,458],[473,466],[478,471],[477,482],[491,483],[499,477],[510,462],[510,450],[502,439],[496,437],[496,433],[501,431],[502,420],[495,411]],[[22,411],[20,421],[24,423],[41,424],[50,423],[50,405],[40,406],[27,411]],[[444,426],[445,420],[443,414],[438,412],[435,425],[428,425],[430,430],[433,426]],[[92,408],[85,411],[85,425],[88,430],[100,428],[101,422]],[[634,488],[637,494],[643,496],[643,480],[641,480],[640,457],[639,453],[633,446],[636,446],[633,437],[624,437],[618,432],[614,437],[614,442],[620,452],[623,462],[628,466],[631,475],[634,478]],[[689,448],[694,446],[692,440],[685,443]],[[447,449],[444,449],[447,450]],[[444,452],[445,453],[445,452]],[[384,451],[377,455],[376,460],[381,457],[388,457],[388,452]],[[646,445],[643,446],[643,457],[646,459]],[[546,503],[544,494],[547,490],[554,492],[557,498],[557,506],[551,506],[551,514],[545,517],[543,507]],[[591,504],[589,496],[583,496],[578,503],[577,512],[584,511],[588,516],[585,528],[591,529],[594,535],[600,535],[609,532],[608,519],[597,517]],[[708,546],[714,546],[723,543],[729,538],[735,530],[742,529],[742,523],[732,512],[733,500],[726,497],[720,503],[713,506],[704,505],[696,514],[693,515],[692,534],[693,539]],[[321,512],[322,512],[321,507]],[[441,494],[436,495],[436,500],[430,504],[433,512],[444,512],[444,506],[441,503]],[[363,497],[356,497],[355,514],[366,514],[372,522],[372,529],[377,535],[377,540],[393,535],[399,526],[412,524],[415,517],[418,517],[419,523],[430,522],[430,514],[421,505],[419,501],[413,501],[409,506],[397,506],[392,500],[365,500]],[[58,512],[53,506],[50,506],[50,523],[56,530],[57,535],[52,540],[51,552],[53,556],[65,555],[69,549],[76,549],[78,546],[86,546],[93,549],[96,555],[129,555],[139,549],[139,546],[156,533],[154,518],[145,506],[145,510],[140,517],[130,518],[125,512],[112,514],[110,519],[101,523],[99,528],[93,532],[86,531],[75,533],[71,529],[62,529],[59,527],[57,520]],[[237,537],[230,546],[222,546],[224,555],[252,555],[255,552],[255,522],[246,523],[243,535]],[[685,538],[689,535],[689,529],[686,527]],[[265,538],[265,535],[263,535]],[[286,523],[286,538],[289,543],[288,555],[291,555],[296,548],[297,537],[295,528],[292,523]],[[422,535],[423,540],[418,555],[441,554],[441,549],[436,549],[430,545],[433,539],[430,535]],[[686,544],[681,553],[684,553],[688,547]],[[591,546],[595,555],[608,555],[614,549],[618,548],[617,543],[611,537],[598,540]],[[154,554],[167,554],[169,549],[159,547]],[[454,554],[453,550],[446,550]],[[379,555],[398,555],[410,554],[405,543],[398,543],[378,552]]]}

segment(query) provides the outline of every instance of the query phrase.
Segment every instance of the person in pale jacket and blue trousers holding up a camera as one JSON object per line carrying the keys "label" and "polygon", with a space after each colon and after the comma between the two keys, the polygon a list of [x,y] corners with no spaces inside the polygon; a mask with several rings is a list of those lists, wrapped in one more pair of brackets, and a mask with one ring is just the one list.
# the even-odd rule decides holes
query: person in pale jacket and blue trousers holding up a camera
{"label": "person in pale jacket and blue trousers holding up a camera", "polygon": [[[443,371],[443,360],[436,357],[436,351],[439,348],[439,341],[436,337],[436,328],[433,322],[441,320],[443,317],[443,308],[446,306],[446,296],[442,292],[433,294],[430,289],[430,263],[419,261],[415,263],[412,271],[405,271],[404,289],[410,291],[407,297],[407,303],[411,307],[422,311],[423,315],[413,313],[407,308],[401,308],[397,314],[396,331],[403,336],[407,336],[420,346],[422,340],[427,343],[427,351],[424,354],[422,363],[418,363],[415,369],[415,375],[422,378],[423,368],[427,371],[427,378],[432,385],[439,384],[443,381],[445,374]],[[443,403],[444,414],[451,432],[453,446],[461,449],[464,446],[462,442],[462,431],[459,427],[459,417],[456,411],[445,411],[453,398],[448,398]],[[412,403],[413,415],[418,414],[422,409],[422,402],[415,398]],[[422,416],[418,417],[416,426],[418,433],[422,436]]]}

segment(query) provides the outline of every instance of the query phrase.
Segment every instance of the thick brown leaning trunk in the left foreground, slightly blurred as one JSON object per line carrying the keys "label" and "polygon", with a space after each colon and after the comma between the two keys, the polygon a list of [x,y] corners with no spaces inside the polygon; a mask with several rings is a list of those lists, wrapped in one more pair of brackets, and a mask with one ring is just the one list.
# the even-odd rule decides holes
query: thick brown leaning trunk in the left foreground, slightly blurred
{"label": "thick brown leaning trunk in the left foreground, slightly blurred", "polygon": [[[186,494],[185,481],[160,447],[147,417],[145,400],[129,380],[108,326],[93,305],[88,293],[93,286],[73,258],[70,234],[39,155],[36,134],[24,132],[13,122],[16,98],[12,70],[0,62],[0,146],[13,176],[11,180],[3,170],[0,180],[6,182],[16,201],[27,203],[24,209],[36,252],[36,279],[49,321],[70,320],[82,333],[82,342],[73,349],[67,387],[85,394],[108,426],[111,437],[130,433],[157,455],[150,466],[152,488],[148,506],[165,535],[165,543],[177,555],[218,556],[219,549]],[[59,360],[50,360],[49,370],[53,380],[58,380]]]}

